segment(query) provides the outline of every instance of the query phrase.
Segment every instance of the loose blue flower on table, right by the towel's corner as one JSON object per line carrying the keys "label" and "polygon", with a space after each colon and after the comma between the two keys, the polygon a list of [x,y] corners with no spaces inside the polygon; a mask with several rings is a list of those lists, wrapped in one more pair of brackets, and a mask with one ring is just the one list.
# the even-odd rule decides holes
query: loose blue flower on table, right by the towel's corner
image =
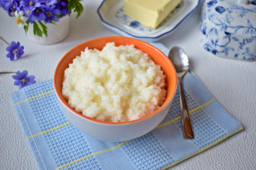
{"label": "loose blue flower on table, right by the towel's corner", "polygon": [[17,71],[16,75],[13,75],[12,78],[15,79],[14,85],[20,86],[20,89],[36,83],[36,81],[34,80],[35,78],[34,75],[28,76],[28,71],[26,70],[22,72]]}

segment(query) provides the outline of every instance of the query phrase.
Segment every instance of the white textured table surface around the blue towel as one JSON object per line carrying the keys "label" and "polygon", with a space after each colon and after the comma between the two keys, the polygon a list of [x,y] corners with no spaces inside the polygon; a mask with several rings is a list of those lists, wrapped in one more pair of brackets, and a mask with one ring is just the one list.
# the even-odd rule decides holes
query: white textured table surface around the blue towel
{"label": "white textured table surface around the blue towel", "polygon": [[[36,81],[53,78],[60,58],[73,46],[92,38],[119,36],[100,22],[96,9],[101,1],[85,1],[84,12],[71,15],[70,33],[58,44],[43,46],[26,37],[3,9],[0,9],[0,36],[8,42],[19,41],[24,56],[10,61],[7,45],[0,41],[0,71],[27,70]],[[220,142],[203,153],[174,166],[173,169],[255,169],[256,167],[256,62],[230,60],[214,56],[199,43],[201,5],[174,30],[160,40],[168,48],[181,46],[189,54],[191,70],[201,79],[220,104],[244,126],[245,130]],[[18,90],[10,74],[0,75],[0,169],[38,169],[28,140],[11,102]]]}

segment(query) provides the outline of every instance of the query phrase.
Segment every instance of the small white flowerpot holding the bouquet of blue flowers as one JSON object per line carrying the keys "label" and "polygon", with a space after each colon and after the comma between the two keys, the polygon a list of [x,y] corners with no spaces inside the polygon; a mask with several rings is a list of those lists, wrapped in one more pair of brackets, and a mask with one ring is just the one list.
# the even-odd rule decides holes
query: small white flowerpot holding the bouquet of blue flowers
{"label": "small white flowerpot holding the bouquet of blue flowers", "polygon": [[65,16],[59,19],[59,22],[56,22],[56,24],[45,24],[47,27],[47,37],[44,34],[42,37],[35,36],[33,24],[30,24],[28,27],[27,36],[30,38],[30,40],[38,44],[49,45],[60,42],[69,34],[69,18],[69,16]]}

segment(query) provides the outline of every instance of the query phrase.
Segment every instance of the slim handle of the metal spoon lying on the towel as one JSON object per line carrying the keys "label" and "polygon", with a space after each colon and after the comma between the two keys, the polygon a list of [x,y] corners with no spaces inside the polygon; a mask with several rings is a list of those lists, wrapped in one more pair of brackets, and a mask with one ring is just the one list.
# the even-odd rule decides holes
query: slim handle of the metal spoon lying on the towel
{"label": "slim handle of the metal spoon lying on the towel", "polygon": [[180,83],[180,95],[181,95],[181,121],[183,126],[183,138],[193,139],[194,134],[191,126],[191,121],[189,118],[189,111],[187,110],[187,102],[185,99],[182,77],[181,79],[179,79],[179,83]]}

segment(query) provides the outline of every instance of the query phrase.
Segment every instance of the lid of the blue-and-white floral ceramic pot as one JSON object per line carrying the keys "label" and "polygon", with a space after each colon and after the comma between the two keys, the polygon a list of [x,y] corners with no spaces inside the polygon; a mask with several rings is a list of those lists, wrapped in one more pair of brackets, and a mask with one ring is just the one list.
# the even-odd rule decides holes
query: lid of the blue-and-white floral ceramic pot
{"label": "lid of the blue-and-white floral ceramic pot", "polygon": [[206,0],[207,19],[220,31],[256,36],[256,1]]}

